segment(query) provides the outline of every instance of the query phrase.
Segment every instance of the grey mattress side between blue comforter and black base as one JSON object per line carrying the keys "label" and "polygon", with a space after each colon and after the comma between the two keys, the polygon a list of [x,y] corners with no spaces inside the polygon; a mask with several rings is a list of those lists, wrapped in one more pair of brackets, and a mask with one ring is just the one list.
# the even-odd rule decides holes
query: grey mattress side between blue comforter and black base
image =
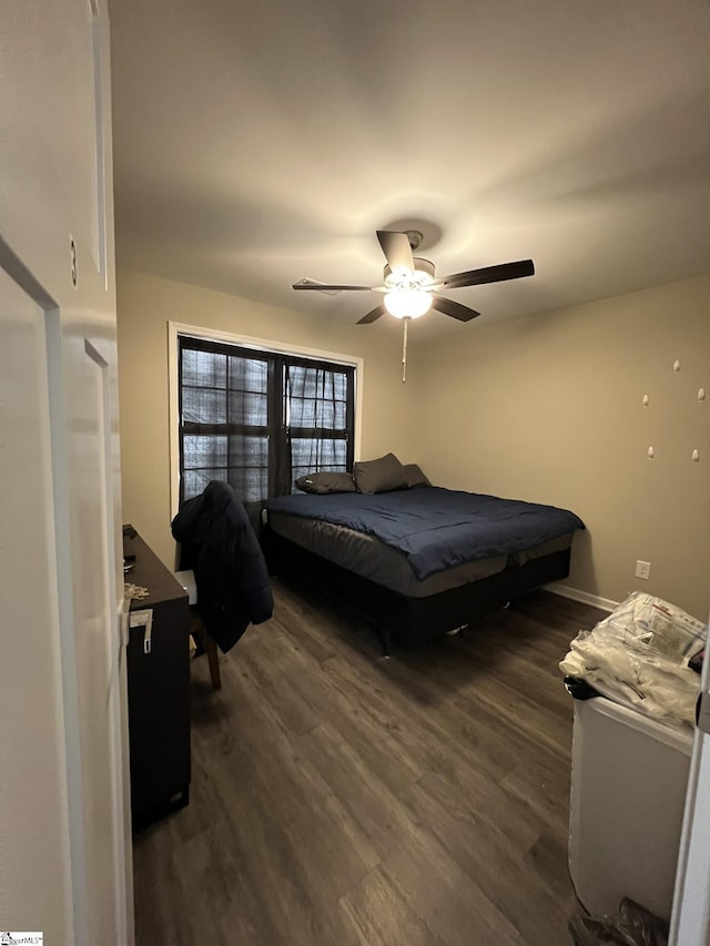
{"label": "grey mattress side between blue comforter and black base", "polygon": [[268,525],[273,532],[294,545],[408,598],[427,598],[562,551],[570,547],[574,536],[574,531],[568,532],[510,556],[476,559],[418,579],[404,552],[365,532],[275,510],[268,511]]}

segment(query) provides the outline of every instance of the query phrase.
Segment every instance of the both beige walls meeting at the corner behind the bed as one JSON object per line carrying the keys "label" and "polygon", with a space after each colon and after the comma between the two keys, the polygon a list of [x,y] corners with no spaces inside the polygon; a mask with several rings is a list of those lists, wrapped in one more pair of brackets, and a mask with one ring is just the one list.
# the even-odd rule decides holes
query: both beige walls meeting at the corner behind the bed
{"label": "both beige walls meeting at the corner behind the bed", "polygon": [[[588,529],[570,587],[613,601],[640,588],[707,618],[710,277],[415,339],[406,385],[396,325],[331,324],[130,272],[118,313],[123,516],[166,563],[174,321],[363,357],[363,458],[394,450],[440,485],[574,509]],[[650,581],[635,578],[637,559]]]}

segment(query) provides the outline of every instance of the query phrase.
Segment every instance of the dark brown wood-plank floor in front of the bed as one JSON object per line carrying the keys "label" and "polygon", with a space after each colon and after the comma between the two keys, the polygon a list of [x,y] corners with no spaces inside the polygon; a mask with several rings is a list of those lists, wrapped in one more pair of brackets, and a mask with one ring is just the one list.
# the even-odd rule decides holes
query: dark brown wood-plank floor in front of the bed
{"label": "dark brown wood-plank floor in front of the bed", "polygon": [[557,946],[571,698],[601,612],[547,592],[396,648],[275,582],[272,621],[193,661],[183,811],[136,835],[139,946]]}

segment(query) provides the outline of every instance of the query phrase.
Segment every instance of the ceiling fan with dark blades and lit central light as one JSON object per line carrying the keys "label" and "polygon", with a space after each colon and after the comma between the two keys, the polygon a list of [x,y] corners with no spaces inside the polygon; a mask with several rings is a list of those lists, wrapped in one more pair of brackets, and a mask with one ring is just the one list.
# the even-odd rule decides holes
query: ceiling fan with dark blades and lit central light
{"label": "ceiling fan with dark blades and lit central light", "polygon": [[450,315],[452,318],[457,318],[459,322],[469,322],[480,313],[453,299],[444,298],[439,295],[442,289],[480,286],[485,283],[519,279],[523,276],[535,274],[532,261],[520,260],[517,263],[501,263],[498,266],[485,266],[480,269],[468,269],[466,273],[454,273],[452,276],[439,276],[437,278],[433,263],[414,256],[422,238],[423,235],[418,230],[407,230],[404,233],[390,230],[377,231],[377,240],[387,261],[383,286],[327,285],[315,279],[301,279],[294,283],[293,287],[294,289],[329,294],[342,292],[384,293],[383,302],[367,315],[364,315],[358,321],[358,325],[368,325],[386,312],[402,319],[419,318],[429,308]]}

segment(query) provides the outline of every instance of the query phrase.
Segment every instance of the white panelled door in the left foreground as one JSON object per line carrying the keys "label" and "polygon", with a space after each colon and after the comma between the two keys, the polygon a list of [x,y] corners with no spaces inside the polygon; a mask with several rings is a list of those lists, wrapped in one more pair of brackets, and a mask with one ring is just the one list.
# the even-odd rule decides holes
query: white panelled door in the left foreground
{"label": "white panelled door in the left foreground", "polygon": [[3,0],[0,927],[131,943],[105,0]]}

